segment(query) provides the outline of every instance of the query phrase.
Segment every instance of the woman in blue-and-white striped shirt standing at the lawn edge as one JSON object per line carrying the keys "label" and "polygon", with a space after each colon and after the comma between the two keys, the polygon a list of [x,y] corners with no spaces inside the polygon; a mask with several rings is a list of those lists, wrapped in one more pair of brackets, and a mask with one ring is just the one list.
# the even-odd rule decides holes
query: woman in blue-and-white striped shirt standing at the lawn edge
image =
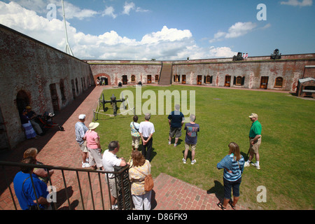
{"label": "woman in blue-and-white striped shirt standing at the lawn edge", "polygon": [[[224,183],[224,200],[223,204],[218,203],[218,207],[226,209],[230,203],[232,209],[239,200],[239,186],[241,185],[241,174],[244,170],[244,158],[239,151],[239,146],[235,142],[229,144],[230,151],[228,155],[216,165],[218,169],[224,169],[223,183]],[[231,190],[233,189],[234,200],[231,200]]]}

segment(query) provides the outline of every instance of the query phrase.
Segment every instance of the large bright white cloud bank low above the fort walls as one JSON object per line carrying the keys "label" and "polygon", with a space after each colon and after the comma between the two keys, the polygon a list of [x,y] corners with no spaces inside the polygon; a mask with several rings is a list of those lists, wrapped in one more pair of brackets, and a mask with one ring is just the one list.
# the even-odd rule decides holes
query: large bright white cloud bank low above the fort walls
{"label": "large bright white cloud bank low above the fort walls", "polygon": [[[64,50],[66,41],[62,19],[49,21],[18,3],[0,1],[0,23],[53,48]],[[235,54],[227,47],[200,48],[188,29],[164,26],[160,31],[144,35],[140,41],[120,36],[116,31],[101,35],[84,34],[77,31],[69,22],[67,31],[70,47],[74,56],[79,59],[178,60],[187,57],[190,59],[232,57]]]}

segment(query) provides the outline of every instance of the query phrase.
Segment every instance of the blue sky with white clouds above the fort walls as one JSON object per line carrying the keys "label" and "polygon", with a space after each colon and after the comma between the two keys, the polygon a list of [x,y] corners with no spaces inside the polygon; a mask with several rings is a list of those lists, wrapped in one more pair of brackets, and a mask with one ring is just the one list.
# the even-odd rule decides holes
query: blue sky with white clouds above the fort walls
{"label": "blue sky with white clouds above the fort walls", "polygon": [[[260,3],[265,10],[257,9]],[[204,59],[238,51],[262,56],[275,48],[283,55],[315,52],[312,0],[64,0],[64,7],[69,45],[79,59]],[[61,0],[0,1],[2,25],[59,50],[65,45],[62,21]]]}

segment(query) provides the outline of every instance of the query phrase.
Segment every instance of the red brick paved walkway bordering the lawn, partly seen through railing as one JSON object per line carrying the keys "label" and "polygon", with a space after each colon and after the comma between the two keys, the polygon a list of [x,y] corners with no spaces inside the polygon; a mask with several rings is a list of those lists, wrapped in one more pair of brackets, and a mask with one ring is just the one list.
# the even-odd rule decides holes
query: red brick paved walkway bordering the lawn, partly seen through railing
{"label": "red brick paved walkway bordering the lawn, partly seen through railing", "polygon": [[[45,165],[53,165],[59,167],[81,167],[80,149],[76,143],[74,134],[74,125],[78,121],[80,113],[86,114],[86,123],[90,123],[93,118],[92,109],[96,108],[99,96],[102,92],[102,87],[90,87],[80,97],[77,97],[73,103],[58,113],[54,121],[64,127],[64,132],[59,132],[56,129],[49,130],[47,134],[38,139],[31,139],[24,141],[22,144],[9,151],[8,153],[0,154],[1,161],[20,162],[22,153],[29,147],[38,148],[37,160],[43,162]],[[13,190],[13,178],[18,172],[18,169],[6,169],[8,182]],[[57,202],[58,209],[83,209],[82,201],[80,199],[80,191],[78,190],[78,181],[75,172],[64,172],[66,176],[66,188],[62,179],[62,172],[55,171],[52,175],[52,185],[57,188],[57,195],[66,198],[64,195],[68,193],[70,199]],[[83,189],[84,209],[93,209],[92,197],[89,186],[89,179],[87,174],[80,173],[80,185]],[[0,172],[0,210],[14,209],[12,200],[10,199],[10,192],[6,188],[3,172]],[[99,189],[99,177],[97,174],[90,175],[92,183],[92,193],[94,195],[94,208],[102,209],[101,195]],[[104,207],[109,209],[109,191],[102,179],[102,190],[104,196]],[[14,190],[13,190],[14,192]],[[59,198],[59,197],[58,197]],[[155,179],[155,188],[153,188],[152,209],[154,210],[214,210],[219,209],[216,203],[218,198],[214,193],[208,194],[207,191],[185,183],[179,179],[175,179],[167,174],[160,174]],[[20,206],[15,197],[15,203],[18,209]],[[230,209],[230,206],[228,207]],[[237,206],[237,209],[246,209]]]}

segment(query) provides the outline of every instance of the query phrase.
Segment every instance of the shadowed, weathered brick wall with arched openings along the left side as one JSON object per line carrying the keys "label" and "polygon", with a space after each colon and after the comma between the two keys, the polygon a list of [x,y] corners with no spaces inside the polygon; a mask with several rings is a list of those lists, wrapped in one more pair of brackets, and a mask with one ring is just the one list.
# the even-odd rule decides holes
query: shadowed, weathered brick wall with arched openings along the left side
{"label": "shadowed, weathered brick wall with arched openings along the left side", "polygon": [[[56,109],[64,109],[91,83],[94,85],[89,64],[3,25],[0,25],[0,57],[0,116],[8,135],[8,148],[25,139],[18,109],[23,101],[38,114],[57,112]],[[57,92],[55,100],[50,94],[52,87]]]}

